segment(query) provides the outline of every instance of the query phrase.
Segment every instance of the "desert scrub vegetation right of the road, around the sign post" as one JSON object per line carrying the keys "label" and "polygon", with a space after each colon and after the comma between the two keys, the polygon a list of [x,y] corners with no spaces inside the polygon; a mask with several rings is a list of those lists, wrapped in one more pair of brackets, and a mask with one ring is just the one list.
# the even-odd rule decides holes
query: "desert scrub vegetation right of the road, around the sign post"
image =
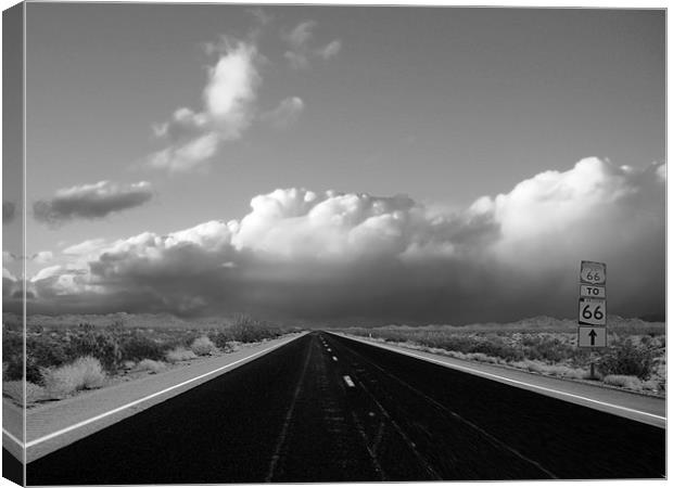
{"label": "desert scrub vegetation right of the road, around the sign post", "polygon": [[499,364],[569,380],[591,380],[639,393],[665,394],[665,324],[613,318],[608,347],[592,357],[579,348],[571,322],[525,326],[350,328],[342,332],[456,359]]}

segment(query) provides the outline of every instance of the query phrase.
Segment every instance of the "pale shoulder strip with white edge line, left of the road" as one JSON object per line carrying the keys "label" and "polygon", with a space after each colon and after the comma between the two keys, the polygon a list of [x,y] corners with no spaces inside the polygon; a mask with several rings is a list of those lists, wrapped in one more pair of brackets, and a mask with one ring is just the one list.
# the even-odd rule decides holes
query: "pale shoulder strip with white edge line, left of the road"
{"label": "pale shoulder strip with white edge line, left of the road", "polygon": [[29,408],[26,411],[27,461],[165,401],[302,335],[289,334],[242,347],[234,352],[186,361],[157,374],[116,378],[107,387]]}

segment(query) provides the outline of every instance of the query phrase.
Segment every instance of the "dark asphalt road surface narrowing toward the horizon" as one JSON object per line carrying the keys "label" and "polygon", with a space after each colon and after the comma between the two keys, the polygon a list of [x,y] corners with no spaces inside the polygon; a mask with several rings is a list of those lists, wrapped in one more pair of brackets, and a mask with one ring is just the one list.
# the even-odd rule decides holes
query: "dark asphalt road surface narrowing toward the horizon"
{"label": "dark asphalt road surface narrowing toward the horizon", "polygon": [[326,333],[27,466],[29,485],[664,476],[663,428]]}

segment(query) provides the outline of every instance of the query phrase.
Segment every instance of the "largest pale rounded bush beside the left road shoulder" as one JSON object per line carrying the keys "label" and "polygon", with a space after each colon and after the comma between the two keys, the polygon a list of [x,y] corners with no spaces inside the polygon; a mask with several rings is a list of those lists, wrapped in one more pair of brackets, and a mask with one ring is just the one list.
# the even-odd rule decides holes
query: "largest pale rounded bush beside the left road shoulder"
{"label": "largest pale rounded bush beside the left road shoulder", "polygon": [[71,364],[42,370],[42,383],[53,395],[69,395],[79,389],[100,388],[105,382],[101,362],[87,356]]}

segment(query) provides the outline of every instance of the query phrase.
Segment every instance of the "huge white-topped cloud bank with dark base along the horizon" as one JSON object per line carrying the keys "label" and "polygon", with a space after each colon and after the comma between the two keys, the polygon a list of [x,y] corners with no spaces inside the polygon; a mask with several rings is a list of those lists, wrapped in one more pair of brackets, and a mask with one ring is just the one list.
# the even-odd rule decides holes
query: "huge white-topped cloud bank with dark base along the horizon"
{"label": "huge white-topped cloud bank with dark base along the horizon", "polygon": [[31,304],[342,322],[573,317],[589,259],[608,264],[610,313],[661,313],[664,200],[665,165],[597,158],[455,211],[280,189],[252,198],[240,220],[75,246],[87,266],[42,270]]}

